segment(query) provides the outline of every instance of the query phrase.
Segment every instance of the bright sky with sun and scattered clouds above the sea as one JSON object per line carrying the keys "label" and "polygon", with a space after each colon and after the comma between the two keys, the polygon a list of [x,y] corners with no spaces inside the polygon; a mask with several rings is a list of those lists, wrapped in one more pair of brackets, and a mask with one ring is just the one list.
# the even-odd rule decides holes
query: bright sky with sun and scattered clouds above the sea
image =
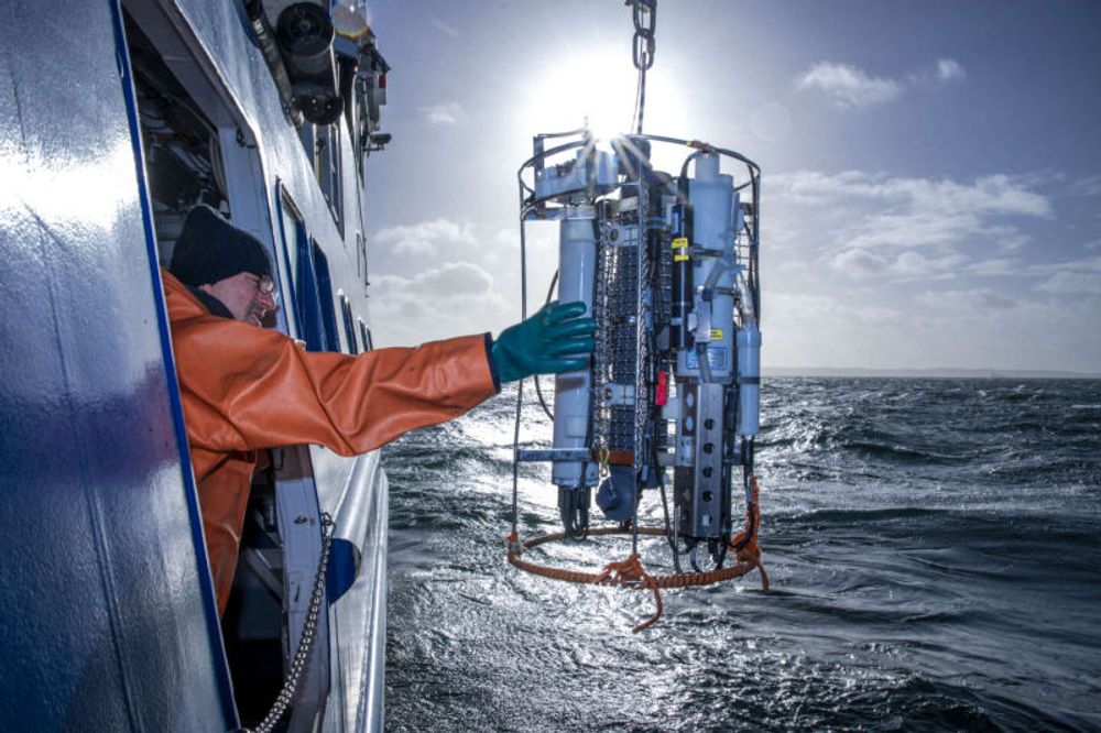
{"label": "bright sky with sun and scattered clouds above the sea", "polygon": [[[622,0],[369,3],[380,344],[520,316],[532,136],[629,131]],[[762,362],[1101,373],[1101,3],[658,0],[644,131],[762,168]],[[742,183],[742,172],[731,168]],[[556,267],[527,227],[532,299]]]}

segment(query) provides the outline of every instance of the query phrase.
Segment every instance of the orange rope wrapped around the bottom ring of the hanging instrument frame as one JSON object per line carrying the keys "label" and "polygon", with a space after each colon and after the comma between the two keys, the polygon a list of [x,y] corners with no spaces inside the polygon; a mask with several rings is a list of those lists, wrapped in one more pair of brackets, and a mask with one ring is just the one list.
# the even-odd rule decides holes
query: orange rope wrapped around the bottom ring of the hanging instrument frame
{"label": "orange rope wrapped around the bottom ring of the hanging instrument frame", "polygon": [[[586,572],[584,570],[569,570],[566,568],[553,568],[525,560],[522,555],[524,550],[546,545],[547,543],[562,541],[566,538],[565,533],[555,532],[520,543],[515,534],[509,536],[510,549],[508,553],[509,562],[532,575],[549,578],[550,580],[562,580],[570,583],[588,583],[592,586],[612,586],[617,588],[628,588],[632,590],[650,589],[654,594],[656,611],[652,617],[642,622],[631,631],[634,633],[648,628],[662,616],[662,594],[661,590],[674,588],[689,588],[695,586],[710,586],[711,583],[724,580],[741,578],[756,568],[761,572],[761,588],[768,590],[768,576],[761,565],[761,548],[756,544],[757,528],[761,526],[761,505],[757,502],[756,477],[751,480],[750,495],[753,503],[745,511],[745,528],[730,540],[731,549],[737,551],[737,562],[727,568],[718,570],[707,570],[702,572],[689,572],[680,575],[653,576],[642,567],[642,560],[637,554],[631,555],[625,560],[613,560],[604,566],[600,572]],[[590,536],[602,535],[630,535],[631,527],[597,527],[589,529]],[[640,535],[665,536],[665,530],[661,527],[639,527]],[[748,537],[748,540],[746,540]],[[738,549],[741,545],[741,549]]]}

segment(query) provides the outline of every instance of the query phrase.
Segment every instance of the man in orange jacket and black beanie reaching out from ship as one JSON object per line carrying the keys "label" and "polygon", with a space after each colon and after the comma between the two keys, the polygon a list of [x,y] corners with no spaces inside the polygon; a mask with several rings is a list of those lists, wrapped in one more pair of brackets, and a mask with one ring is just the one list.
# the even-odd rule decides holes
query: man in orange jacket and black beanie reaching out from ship
{"label": "man in orange jacket and black beanie reaching out from ship", "polygon": [[219,613],[257,450],[373,450],[458,417],[501,382],[584,369],[595,346],[596,324],[574,303],[547,306],[497,340],[481,333],[358,357],[305,351],[259,327],[275,309],[264,247],[206,206],[188,215],[163,280]]}

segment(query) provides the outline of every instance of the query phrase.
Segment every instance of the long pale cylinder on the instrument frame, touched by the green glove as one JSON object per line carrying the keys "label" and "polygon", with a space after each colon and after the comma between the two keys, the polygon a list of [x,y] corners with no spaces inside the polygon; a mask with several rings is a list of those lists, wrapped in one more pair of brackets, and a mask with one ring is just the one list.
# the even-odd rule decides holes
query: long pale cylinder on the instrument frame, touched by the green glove
{"label": "long pale cylinder on the instrument frame, touched by the green glove", "polygon": [[[558,302],[585,303],[592,314],[597,239],[592,219],[563,219],[558,230]],[[564,372],[554,381],[554,447],[585,448],[589,427],[589,370]],[[585,485],[597,483],[597,464],[589,462]],[[550,480],[578,486],[581,461],[555,461]]]}

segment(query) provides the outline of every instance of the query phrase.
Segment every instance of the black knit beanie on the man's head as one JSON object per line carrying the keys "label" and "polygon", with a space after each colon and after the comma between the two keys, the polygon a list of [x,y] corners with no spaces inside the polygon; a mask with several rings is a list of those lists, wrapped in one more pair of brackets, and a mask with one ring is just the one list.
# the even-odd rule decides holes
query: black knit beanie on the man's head
{"label": "black knit beanie on the man's head", "polygon": [[181,282],[198,287],[242,272],[271,277],[272,263],[260,240],[199,204],[187,215],[168,271]]}

